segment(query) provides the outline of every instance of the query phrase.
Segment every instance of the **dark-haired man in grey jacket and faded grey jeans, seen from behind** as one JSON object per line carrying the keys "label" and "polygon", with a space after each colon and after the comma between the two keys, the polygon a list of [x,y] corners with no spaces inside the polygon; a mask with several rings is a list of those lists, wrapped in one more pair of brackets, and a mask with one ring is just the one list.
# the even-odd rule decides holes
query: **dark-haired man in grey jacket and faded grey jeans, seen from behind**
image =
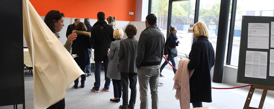
{"label": "dark-haired man in grey jacket and faded grey jeans, seen from behind", "polygon": [[136,68],[140,85],[140,109],[148,109],[148,83],[151,91],[152,109],[158,109],[158,79],[164,55],[164,34],[155,26],[154,14],[146,16],[146,29],[142,31],[137,47]]}

